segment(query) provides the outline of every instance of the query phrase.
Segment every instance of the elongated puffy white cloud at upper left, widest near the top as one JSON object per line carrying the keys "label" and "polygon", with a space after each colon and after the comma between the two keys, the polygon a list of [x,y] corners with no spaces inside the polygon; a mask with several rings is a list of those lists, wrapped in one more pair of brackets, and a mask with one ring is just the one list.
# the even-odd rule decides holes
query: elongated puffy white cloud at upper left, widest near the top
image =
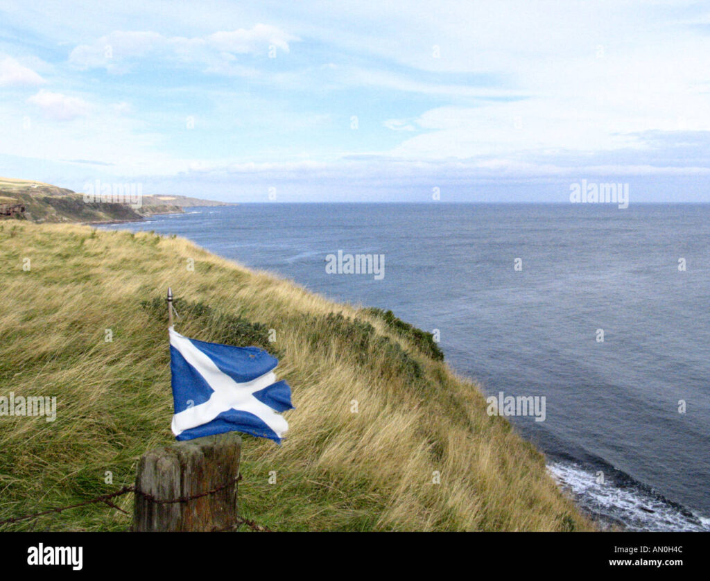
{"label": "elongated puffy white cloud at upper left, widest near the top", "polygon": [[126,72],[129,61],[152,58],[182,65],[197,63],[210,72],[227,72],[224,67],[235,60],[235,55],[264,54],[271,47],[288,53],[289,43],[296,40],[296,36],[267,24],[192,38],[150,31],[114,31],[94,43],[77,46],[69,61],[84,70],[106,67],[112,72]]}

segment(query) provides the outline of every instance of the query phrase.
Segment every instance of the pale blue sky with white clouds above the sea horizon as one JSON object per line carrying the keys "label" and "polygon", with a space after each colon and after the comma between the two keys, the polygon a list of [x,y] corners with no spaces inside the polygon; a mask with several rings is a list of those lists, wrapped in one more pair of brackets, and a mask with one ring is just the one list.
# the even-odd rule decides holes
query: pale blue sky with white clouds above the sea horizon
{"label": "pale blue sky with white clouds above the sea horizon", "polygon": [[232,202],[710,202],[710,4],[0,0],[0,175]]}

